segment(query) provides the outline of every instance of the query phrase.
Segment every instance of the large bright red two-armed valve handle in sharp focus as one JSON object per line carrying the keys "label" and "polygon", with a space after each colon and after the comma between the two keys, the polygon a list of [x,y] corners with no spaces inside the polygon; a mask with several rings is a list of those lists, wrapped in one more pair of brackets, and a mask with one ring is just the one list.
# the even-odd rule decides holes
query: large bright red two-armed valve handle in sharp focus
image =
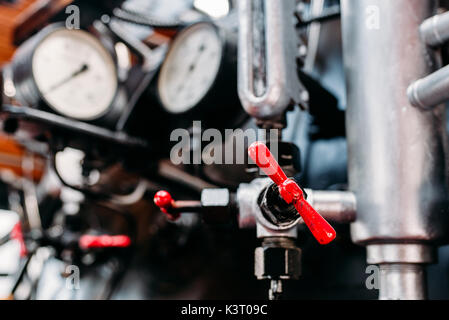
{"label": "large bright red two-armed valve handle in sharp focus", "polygon": [[318,242],[320,244],[332,242],[337,236],[334,228],[306,201],[298,184],[287,178],[267,146],[262,142],[255,142],[249,147],[248,154],[278,186],[279,193],[285,202],[294,204]]}

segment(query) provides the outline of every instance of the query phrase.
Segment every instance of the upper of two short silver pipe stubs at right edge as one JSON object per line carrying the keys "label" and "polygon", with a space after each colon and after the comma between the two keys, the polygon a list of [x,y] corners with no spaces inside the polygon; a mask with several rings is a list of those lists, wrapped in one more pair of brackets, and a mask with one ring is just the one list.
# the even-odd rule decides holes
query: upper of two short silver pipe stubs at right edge
{"label": "upper of two short silver pipe stubs at right edge", "polygon": [[438,47],[449,40],[449,12],[425,20],[420,27],[422,39],[431,47]]}

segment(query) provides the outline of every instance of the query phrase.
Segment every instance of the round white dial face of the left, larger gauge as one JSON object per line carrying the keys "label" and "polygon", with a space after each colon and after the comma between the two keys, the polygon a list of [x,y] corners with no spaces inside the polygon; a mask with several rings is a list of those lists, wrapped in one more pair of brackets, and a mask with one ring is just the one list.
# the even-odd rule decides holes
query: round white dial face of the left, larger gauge
{"label": "round white dial face of the left, larger gauge", "polygon": [[36,47],[33,77],[45,102],[58,113],[93,120],[111,106],[117,70],[109,52],[89,33],[58,29]]}

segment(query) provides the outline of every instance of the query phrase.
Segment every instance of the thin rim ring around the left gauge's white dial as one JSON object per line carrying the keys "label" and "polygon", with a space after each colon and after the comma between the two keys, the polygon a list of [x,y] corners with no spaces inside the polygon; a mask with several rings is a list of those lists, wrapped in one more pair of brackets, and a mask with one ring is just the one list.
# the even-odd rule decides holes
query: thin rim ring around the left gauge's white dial
{"label": "thin rim ring around the left gauge's white dial", "polygon": [[[83,29],[73,29],[73,30],[70,30],[70,29],[67,29],[67,28],[65,28],[65,26],[62,26],[62,25],[60,25],[60,24],[52,25],[51,27],[52,27],[51,29],[46,30],[47,32],[44,33],[44,35],[43,35],[43,36],[39,39],[39,41],[36,43],[36,45],[35,45],[34,48],[33,48],[33,52],[32,52],[32,54],[31,54],[31,57],[30,57],[30,59],[31,59],[31,60],[30,60],[30,67],[31,67],[31,69],[30,69],[30,76],[31,76],[31,78],[32,78],[32,80],[33,80],[34,85],[36,86],[36,89],[37,89],[37,92],[38,92],[38,94],[39,94],[40,99],[41,99],[42,102],[44,102],[45,105],[48,106],[52,111],[56,112],[56,113],[59,114],[59,115],[62,115],[62,116],[64,116],[64,117],[68,117],[68,118],[71,118],[71,119],[74,119],[74,120],[79,120],[79,121],[94,121],[94,120],[98,120],[98,119],[104,117],[104,116],[105,116],[106,114],[108,114],[108,113],[111,111],[111,109],[113,108],[114,101],[116,100],[117,95],[118,95],[118,91],[119,91],[119,80],[118,80],[118,69],[117,69],[118,66],[117,66],[117,58],[116,58],[115,54],[113,54],[113,53],[111,52],[111,50],[109,50],[108,47],[105,46],[105,44],[104,44],[101,40],[99,40],[95,35],[93,35],[93,34],[87,32],[86,30],[83,30]],[[35,54],[36,54],[36,50],[39,48],[40,45],[42,45],[42,43],[43,43],[46,39],[48,39],[48,38],[51,37],[54,33],[59,32],[59,31],[77,32],[77,33],[80,33],[80,34],[82,34],[82,35],[84,35],[84,36],[87,36],[88,38],[90,38],[90,40],[92,40],[93,42],[96,42],[96,43],[99,45],[99,47],[103,48],[104,51],[107,53],[107,55],[111,58],[111,61],[112,61],[112,63],[113,63],[113,67],[114,67],[114,84],[115,84],[115,92],[114,92],[114,95],[113,95],[113,97],[112,97],[112,99],[111,99],[111,101],[110,101],[108,107],[107,107],[103,112],[101,112],[100,114],[97,114],[97,115],[95,115],[95,116],[93,116],[93,117],[74,117],[74,116],[72,116],[72,115],[64,114],[63,112],[59,111],[56,107],[54,107],[51,103],[49,103],[49,101],[45,98],[45,96],[43,95],[43,93],[41,92],[41,90],[40,90],[40,88],[39,88],[39,85],[38,85],[38,83],[37,83],[37,81],[36,81],[36,79],[35,79],[35,75],[34,75],[34,57],[35,57]]]}

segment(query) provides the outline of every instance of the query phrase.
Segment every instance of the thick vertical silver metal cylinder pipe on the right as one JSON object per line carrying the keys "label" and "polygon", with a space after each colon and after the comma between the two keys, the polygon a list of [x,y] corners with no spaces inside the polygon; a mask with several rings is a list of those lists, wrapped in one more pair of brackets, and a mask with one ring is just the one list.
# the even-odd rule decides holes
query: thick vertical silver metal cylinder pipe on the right
{"label": "thick vertical silver metal cylinder pipe on the right", "polygon": [[[427,244],[446,240],[444,107],[422,111],[407,98],[409,84],[436,67],[419,35],[436,5],[434,0],[342,0],[349,181],[357,197],[351,234],[355,243],[376,246],[368,250],[369,263],[428,263]],[[398,273],[410,284],[405,271]],[[424,283],[423,273],[415,277]],[[381,293],[409,297],[401,295],[398,282],[381,286]]]}

